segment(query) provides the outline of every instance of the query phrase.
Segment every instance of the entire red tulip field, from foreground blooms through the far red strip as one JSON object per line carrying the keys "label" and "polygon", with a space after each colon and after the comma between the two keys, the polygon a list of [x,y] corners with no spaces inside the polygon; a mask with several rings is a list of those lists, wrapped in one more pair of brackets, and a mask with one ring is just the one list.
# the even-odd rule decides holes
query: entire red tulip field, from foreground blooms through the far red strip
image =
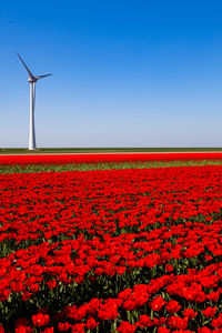
{"label": "entire red tulip field, from foreground blooms through the far red strip", "polygon": [[222,153],[0,164],[0,333],[222,332]]}

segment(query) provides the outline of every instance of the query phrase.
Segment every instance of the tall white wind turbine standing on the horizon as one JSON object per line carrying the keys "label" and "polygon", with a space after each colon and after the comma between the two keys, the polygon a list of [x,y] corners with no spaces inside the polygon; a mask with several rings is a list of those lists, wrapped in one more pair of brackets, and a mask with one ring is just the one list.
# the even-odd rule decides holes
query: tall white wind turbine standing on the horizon
{"label": "tall white wind turbine standing on the horizon", "polygon": [[24,61],[21,59],[19,53],[17,52],[17,56],[21,60],[22,64],[24,65],[26,70],[29,73],[28,82],[30,83],[30,127],[29,127],[29,150],[37,149],[36,145],[36,134],[34,134],[34,103],[36,103],[36,82],[40,79],[50,77],[52,74],[44,74],[44,75],[38,75],[34,77],[30,69],[27,67]]}

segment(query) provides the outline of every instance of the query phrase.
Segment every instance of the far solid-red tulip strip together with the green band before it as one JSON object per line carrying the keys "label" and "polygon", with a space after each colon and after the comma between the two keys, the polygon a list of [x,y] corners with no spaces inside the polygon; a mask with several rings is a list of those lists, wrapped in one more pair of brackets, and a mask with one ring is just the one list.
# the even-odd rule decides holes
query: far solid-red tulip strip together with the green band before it
{"label": "far solid-red tulip strip together with the green band before it", "polygon": [[0,173],[221,165],[222,152],[1,154]]}

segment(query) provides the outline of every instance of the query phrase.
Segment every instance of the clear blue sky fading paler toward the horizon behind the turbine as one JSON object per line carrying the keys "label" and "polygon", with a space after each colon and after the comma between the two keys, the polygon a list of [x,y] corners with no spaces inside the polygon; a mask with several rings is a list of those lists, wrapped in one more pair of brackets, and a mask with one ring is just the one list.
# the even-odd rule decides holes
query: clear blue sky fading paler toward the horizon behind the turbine
{"label": "clear blue sky fading paler toward the horizon behind the turbine", "polygon": [[0,147],[222,147],[221,0],[0,3]]}

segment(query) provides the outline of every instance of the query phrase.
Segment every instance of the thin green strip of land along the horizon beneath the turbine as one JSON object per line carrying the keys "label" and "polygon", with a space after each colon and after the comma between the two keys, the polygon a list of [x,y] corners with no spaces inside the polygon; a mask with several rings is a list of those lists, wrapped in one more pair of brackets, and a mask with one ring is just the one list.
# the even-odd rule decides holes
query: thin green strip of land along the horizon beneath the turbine
{"label": "thin green strip of land along the horizon beneath the turbine", "polygon": [[216,152],[222,148],[0,148],[0,154],[41,154],[41,153],[121,153],[121,152]]}

